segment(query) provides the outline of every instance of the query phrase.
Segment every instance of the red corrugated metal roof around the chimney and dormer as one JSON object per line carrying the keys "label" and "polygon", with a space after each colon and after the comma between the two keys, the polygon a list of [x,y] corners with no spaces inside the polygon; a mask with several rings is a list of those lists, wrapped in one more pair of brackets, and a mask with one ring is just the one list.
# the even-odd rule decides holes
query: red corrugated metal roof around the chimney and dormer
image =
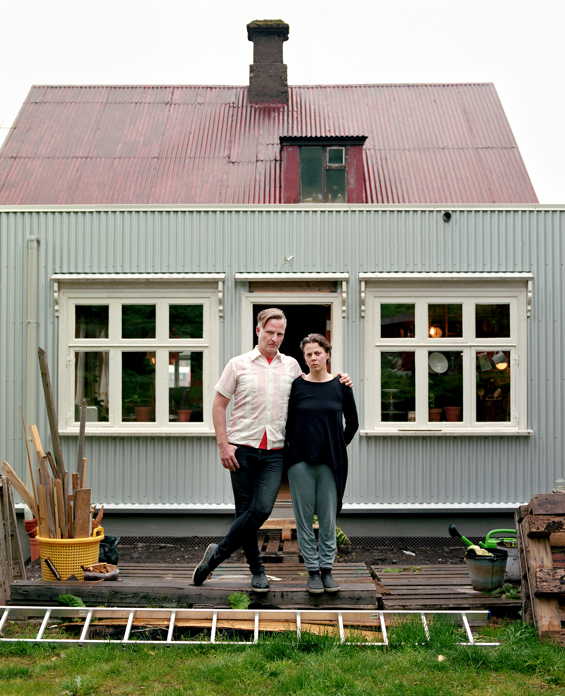
{"label": "red corrugated metal roof around the chimney and dormer", "polygon": [[34,86],[0,204],[280,203],[280,136],[366,136],[367,203],[537,203],[492,84]]}

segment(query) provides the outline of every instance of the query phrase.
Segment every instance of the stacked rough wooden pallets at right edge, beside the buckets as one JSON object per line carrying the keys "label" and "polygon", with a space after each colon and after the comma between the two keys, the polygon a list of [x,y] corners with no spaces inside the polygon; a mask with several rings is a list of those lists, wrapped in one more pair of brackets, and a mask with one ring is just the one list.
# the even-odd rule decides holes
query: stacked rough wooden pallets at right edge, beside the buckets
{"label": "stacked rough wooden pallets at right edge, beside the buckets", "polygon": [[565,644],[565,493],[541,493],[516,510],[522,618]]}

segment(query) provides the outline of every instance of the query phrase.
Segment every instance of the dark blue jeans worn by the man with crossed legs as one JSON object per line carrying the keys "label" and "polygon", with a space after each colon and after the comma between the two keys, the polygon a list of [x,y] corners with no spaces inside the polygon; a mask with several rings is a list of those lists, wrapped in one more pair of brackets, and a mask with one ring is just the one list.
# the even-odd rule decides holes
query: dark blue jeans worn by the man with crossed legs
{"label": "dark blue jeans worn by the man with crossed legs", "polygon": [[283,450],[237,446],[239,469],[230,471],[235,521],[216,552],[223,560],[242,546],[253,574],[264,571],[257,531],[273,510],[283,475]]}

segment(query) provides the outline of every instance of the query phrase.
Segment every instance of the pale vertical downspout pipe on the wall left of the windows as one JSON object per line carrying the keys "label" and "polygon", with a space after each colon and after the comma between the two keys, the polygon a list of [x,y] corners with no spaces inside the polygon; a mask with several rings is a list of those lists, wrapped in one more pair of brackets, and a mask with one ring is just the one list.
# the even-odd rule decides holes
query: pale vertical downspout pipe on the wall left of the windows
{"label": "pale vertical downspout pipe on the wall left of the windows", "polygon": [[[29,426],[35,424],[35,398],[38,373],[38,235],[27,240],[27,364],[26,364],[26,438],[29,451],[34,452],[29,434]],[[31,462],[33,466],[33,461]],[[31,490],[33,482],[26,466],[27,486]]]}

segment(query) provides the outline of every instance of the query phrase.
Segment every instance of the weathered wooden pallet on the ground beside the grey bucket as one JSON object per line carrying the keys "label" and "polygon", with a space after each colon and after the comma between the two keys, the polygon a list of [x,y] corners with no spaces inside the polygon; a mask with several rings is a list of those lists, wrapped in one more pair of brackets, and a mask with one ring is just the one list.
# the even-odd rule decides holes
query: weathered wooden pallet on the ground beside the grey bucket
{"label": "weathered wooden pallet on the ground beside the grey bucket", "polygon": [[[518,611],[519,599],[483,594],[472,589],[465,564],[418,566],[372,566],[376,578],[390,594],[383,594],[385,609],[429,610],[489,609]],[[401,569],[401,572],[396,572]],[[393,571],[393,572],[391,572]]]}

